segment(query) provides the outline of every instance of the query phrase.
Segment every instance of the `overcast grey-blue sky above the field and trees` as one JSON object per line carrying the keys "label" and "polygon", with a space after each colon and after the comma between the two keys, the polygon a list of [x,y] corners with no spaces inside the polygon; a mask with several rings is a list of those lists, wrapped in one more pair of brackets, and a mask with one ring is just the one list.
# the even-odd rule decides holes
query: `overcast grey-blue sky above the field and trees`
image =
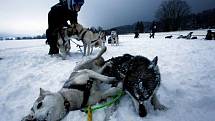
{"label": "overcast grey-blue sky above the field and trees", "polygon": [[[48,11],[59,0],[1,0],[0,33],[43,34],[47,29]],[[164,0],[85,0],[78,21],[85,27],[133,24],[151,21]],[[185,0],[193,12],[214,8],[215,0]]]}

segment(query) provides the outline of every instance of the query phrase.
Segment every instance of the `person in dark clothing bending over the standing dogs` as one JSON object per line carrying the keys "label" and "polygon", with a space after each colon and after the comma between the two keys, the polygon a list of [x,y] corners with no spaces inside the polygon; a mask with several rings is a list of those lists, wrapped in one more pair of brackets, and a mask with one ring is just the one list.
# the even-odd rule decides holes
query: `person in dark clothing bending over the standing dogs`
{"label": "person in dark clothing bending over the standing dogs", "polygon": [[57,47],[58,32],[65,26],[77,23],[78,12],[84,0],[60,0],[59,3],[51,7],[48,13],[48,29],[46,30],[46,43],[49,44],[49,54],[59,54]]}

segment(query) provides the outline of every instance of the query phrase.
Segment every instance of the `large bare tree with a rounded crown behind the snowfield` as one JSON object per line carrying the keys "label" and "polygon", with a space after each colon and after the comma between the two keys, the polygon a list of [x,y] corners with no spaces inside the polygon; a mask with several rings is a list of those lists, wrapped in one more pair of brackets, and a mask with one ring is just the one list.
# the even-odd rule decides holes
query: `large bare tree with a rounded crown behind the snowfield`
{"label": "large bare tree with a rounded crown behind the snowfield", "polygon": [[183,0],[163,1],[156,12],[156,18],[163,24],[164,31],[178,30],[185,24],[190,6]]}

